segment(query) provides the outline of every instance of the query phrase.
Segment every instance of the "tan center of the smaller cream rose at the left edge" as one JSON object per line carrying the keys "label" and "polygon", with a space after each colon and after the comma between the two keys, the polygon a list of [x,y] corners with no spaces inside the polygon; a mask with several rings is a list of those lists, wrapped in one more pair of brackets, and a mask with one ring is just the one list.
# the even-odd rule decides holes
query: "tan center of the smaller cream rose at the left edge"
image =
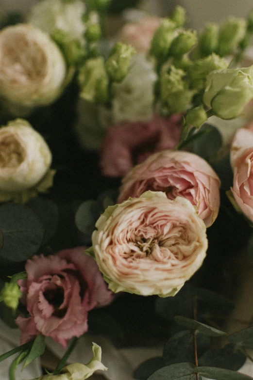
{"label": "tan center of the smaller cream rose at the left edge", "polygon": [[0,140],[0,168],[16,168],[25,159],[25,150],[15,136],[7,134]]}

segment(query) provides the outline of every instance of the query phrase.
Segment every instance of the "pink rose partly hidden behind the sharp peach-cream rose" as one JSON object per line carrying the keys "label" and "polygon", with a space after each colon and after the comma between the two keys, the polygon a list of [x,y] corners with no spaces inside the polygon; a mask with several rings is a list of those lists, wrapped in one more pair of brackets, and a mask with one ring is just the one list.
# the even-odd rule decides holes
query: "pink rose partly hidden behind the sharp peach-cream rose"
{"label": "pink rose partly hidden behind the sharp peach-cream rose", "polygon": [[188,199],[209,227],[219,212],[220,180],[201,157],[188,152],[165,150],[135,166],[123,179],[118,197],[122,202],[144,191],[164,191],[169,199]]}

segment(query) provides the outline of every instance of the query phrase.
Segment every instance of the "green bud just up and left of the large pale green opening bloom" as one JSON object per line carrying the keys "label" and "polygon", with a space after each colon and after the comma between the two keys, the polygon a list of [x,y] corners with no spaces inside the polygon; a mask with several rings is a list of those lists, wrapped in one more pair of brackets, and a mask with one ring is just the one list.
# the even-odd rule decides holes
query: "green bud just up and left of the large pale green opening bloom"
{"label": "green bud just up and left of the large pale green opening bloom", "polygon": [[191,88],[205,87],[206,77],[213,70],[225,69],[228,63],[217,54],[211,54],[206,58],[195,61],[188,70],[189,83]]}

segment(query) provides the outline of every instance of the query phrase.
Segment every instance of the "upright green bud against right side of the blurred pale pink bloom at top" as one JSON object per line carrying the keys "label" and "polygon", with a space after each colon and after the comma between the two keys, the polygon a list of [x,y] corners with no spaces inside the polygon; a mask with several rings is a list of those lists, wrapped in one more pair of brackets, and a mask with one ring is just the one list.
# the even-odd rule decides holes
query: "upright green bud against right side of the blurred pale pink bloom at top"
{"label": "upright green bud against right side of the blurred pale pink bloom at top", "polygon": [[175,37],[175,29],[176,24],[169,18],[164,18],[159,28],[155,31],[151,42],[150,54],[153,55],[158,62],[164,63],[168,58],[169,47]]}

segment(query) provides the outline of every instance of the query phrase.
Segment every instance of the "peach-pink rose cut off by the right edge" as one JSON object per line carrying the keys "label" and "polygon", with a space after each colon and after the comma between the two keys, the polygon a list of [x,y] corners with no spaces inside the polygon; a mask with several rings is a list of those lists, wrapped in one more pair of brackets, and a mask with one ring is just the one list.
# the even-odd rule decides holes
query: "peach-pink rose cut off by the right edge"
{"label": "peach-pink rose cut off by the right edge", "polygon": [[240,128],[231,145],[234,171],[233,195],[242,212],[253,222],[253,128]]}

